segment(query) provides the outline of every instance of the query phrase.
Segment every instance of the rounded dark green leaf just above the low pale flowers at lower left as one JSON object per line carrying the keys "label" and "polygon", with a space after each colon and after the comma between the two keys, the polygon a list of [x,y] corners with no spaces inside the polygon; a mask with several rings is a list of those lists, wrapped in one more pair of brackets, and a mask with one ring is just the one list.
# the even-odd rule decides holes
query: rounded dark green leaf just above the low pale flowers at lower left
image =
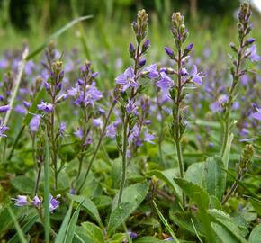
{"label": "rounded dark green leaf just above the low pale flowers at lower left", "polygon": [[33,193],[34,182],[33,182],[33,180],[31,180],[31,178],[28,178],[25,175],[20,175],[20,176],[14,177],[14,179],[11,181],[11,184],[20,193],[25,193],[25,194]]}

